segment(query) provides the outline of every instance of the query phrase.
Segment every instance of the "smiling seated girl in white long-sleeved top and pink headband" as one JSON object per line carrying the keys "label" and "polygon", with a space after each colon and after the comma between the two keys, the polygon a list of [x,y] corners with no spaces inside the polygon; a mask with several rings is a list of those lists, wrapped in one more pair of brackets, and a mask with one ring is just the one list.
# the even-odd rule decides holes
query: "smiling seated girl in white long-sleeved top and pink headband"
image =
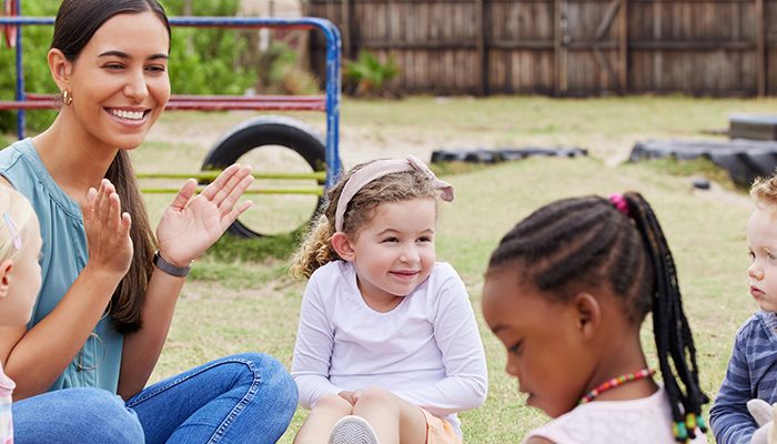
{"label": "smiling seated girl in white long-sleeved top and pink headband", "polygon": [[296,443],[460,443],[456,412],[486,396],[464,283],[435,262],[437,195],[420,160],[345,174],[292,272],[309,276],[292,375],[311,408]]}

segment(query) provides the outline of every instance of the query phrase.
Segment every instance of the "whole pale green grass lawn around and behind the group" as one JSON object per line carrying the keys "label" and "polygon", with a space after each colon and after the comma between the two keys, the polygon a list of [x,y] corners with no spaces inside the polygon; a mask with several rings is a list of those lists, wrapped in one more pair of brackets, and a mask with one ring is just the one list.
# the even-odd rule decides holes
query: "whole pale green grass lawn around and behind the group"
{"label": "whole pale green grass lawn around and behind the group", "polygon": [[[407,152],[425,155],[441,147],[565,145],[591,152],[589,158],[437,168],[456,188],[456,200],[441,205],[437,256],[451,262],[467,285],[490,370],[485,405],[461,415],[466,442],[517,443],[546,421],[541,412],[524,406],[516,381],[504,372],[505,352],[483,323],[481,289],[485,264],[500,238],[537,206],[571,195],[636,190],[654,205],[675,254],[698,347],[702,384],[709,395],[715,394],[734,333],[756,311],[747,295],[745,274],[748,198],[730,184],[725,172],[706,161],[630,164],[617,160],[627,158],[635,141],[707,138],[702,132],[725,129],[731,112],[770,112],[775,105],[774,99],[683,97],[345,101],[341,155],[346,165]],[[168,113],[152,133],[152,142],[133,153],[138,170],[194,171],[218,134],[251,115]],[[323,128],[321,114],[300,118]],[[697,176],[713,180],[713,190],[694,190],[692,178]],[[170,199],[148,196],[152,221]],[[312,211],[310,202],[283,199],[263,201],[250,211],[262,214],[258,218],[262,222],[264,214],[286,212],[285,204],[294,205],[289,212],[297,219]],[[245,351],[266,352],[290,365],[304,289],[303,282],[285,275],[285,258],[294,239],[224,239],[196,261],[152,381]],[[643,344],[655,362],[649,320],[644,324]],[[297,411],[281,443],[292,442],[305,416],[306,412]]]}

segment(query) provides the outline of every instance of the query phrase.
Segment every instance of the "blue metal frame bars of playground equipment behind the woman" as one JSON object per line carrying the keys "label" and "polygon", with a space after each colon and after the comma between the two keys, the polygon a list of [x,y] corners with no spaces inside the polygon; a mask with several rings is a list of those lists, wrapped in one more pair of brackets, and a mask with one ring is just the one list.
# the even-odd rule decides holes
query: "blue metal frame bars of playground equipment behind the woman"
{"label": "blue metal frame bars of playground equipment behind the woman", "polygon": [[[16,0],[20,2],[20,0]],[[2,24],[53,24],[53,17],[0,17]],[[316,17],[296,19],[258,18],[258,17],[171,17],[170,24],[175,27],[231,27],[231,28],[319,28],[326,37],[326,182],[325,186],[334,185],[340,176],[340,103],[342,81],[341,70],[341,36],[337,27],[331,21]],[[23,72],[21,65],[21,32],[17,36],[17,100],[23,100]],[[23,110],[20,110],[19,138],[23,139]]]}

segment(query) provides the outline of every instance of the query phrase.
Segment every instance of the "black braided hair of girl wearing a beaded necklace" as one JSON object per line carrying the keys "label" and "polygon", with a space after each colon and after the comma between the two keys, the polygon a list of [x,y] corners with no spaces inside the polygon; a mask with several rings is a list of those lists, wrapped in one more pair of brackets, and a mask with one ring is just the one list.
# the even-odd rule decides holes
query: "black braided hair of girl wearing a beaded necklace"
{"label": "black braided hair of girl wearing a beaded necklace", "polygon": [[[623,299],[629,322],[653,311],[653,331],[678,442],[706,432],[696,347],[683,311],[672,252],[650,205],[626,193],[624,212],[598,196],[556,201],[532,213],[500,242],[490,269],[517,262],[522,279],[562,301],[603,283]],[[685,390],[680,387],[680,383]]]}

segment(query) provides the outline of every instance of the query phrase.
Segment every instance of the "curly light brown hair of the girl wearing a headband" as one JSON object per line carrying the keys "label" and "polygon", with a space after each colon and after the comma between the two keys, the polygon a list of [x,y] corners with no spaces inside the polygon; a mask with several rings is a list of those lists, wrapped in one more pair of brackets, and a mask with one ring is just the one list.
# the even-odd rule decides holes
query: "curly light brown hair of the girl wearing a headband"
{"label": "curly light brown hair of the girl wearing a headband", "polygon": [[[289,272],[293,278],[310,278],[320,266],[341,259],[332,248],[337,200],[349,179],[372,162],[374,161],[354,167],[326,192],[323,210],[292,256]],[[354,238],[359,235],[359,230],[372,221],[375,210],[383,203],[428,198],[434,199],[436,204],[437,193],[434,180],[416,170],[383,175],[364,185],[351,199],[343,215],[343,233]]]}

